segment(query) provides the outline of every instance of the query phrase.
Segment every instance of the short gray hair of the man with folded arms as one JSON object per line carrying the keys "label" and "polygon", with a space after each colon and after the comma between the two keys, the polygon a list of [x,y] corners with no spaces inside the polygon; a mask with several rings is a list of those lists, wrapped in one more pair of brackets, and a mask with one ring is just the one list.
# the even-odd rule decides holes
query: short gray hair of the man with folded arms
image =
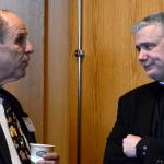
{"label": "short gray hair of the man with folded arms", "polygon": [[142,19],[139,23],[132,26],[132,31],[134,33],[139,32],[141,28],[148,25],[157,25],[164,26],[164,12],[153,13],[144,19]]}

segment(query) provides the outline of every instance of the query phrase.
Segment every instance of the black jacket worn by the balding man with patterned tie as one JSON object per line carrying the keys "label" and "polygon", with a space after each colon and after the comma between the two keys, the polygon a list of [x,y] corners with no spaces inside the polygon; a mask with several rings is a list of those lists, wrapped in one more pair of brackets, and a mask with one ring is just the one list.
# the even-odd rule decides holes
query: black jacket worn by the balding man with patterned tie
{"label": "black jacket worn by the balding man with patterned tie", "polygon": [[[25,122],[22,119],[23,117],[28,117],[28,116],[25,112],[23,112],[17,99],[3,89],[0,89],[0,97],[5,98],[10,102],[10,105],[14,109],[16,118],[20,121],[22,131],[25,134],[28,143],[36,142],[34,132],[28,131]],[[12,164],[8,143],[7,143],[7,140],[5,140],[5,137],[4,137],[4,133],[3,133],[1,126],[0,126],[0,164]]]}

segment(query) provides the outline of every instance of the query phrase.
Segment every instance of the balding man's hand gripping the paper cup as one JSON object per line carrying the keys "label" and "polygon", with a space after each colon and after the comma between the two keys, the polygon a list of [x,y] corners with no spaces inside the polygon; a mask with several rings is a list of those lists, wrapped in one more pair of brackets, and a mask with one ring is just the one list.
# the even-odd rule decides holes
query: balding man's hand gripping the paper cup
{"label": "balding man's hand gripping the paper cup", "polygon": [[47,153],[43,156],[44,160],[37,162],[37,164],[59,164],[59,155],[54,153]]}

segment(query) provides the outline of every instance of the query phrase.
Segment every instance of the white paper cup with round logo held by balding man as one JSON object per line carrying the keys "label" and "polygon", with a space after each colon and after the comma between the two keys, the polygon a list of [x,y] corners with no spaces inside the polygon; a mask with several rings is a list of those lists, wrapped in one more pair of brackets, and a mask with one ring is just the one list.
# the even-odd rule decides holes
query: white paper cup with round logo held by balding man
{"label": "white paper cup with round logo held by balding man", "polygon": [[43,155],[54,151],[55,145],[30,143],[31,145],[31,164],[43,160]]}

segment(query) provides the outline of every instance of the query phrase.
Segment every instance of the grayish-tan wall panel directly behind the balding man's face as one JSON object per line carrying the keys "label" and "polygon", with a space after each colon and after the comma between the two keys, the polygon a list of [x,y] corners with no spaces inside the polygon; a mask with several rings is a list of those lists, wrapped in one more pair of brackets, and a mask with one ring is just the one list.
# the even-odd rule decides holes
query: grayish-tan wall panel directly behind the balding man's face
{"label": "grayish-tan wall panel directly behind the balding man's face", "polygon": [[23,17],[28,30],[28,38],[35,47],[31,55],[27,75],[8,89],[16,95],[23,108],[31,115],[39,142],[44,139],[44,0],[1,0],[1,9]]}

